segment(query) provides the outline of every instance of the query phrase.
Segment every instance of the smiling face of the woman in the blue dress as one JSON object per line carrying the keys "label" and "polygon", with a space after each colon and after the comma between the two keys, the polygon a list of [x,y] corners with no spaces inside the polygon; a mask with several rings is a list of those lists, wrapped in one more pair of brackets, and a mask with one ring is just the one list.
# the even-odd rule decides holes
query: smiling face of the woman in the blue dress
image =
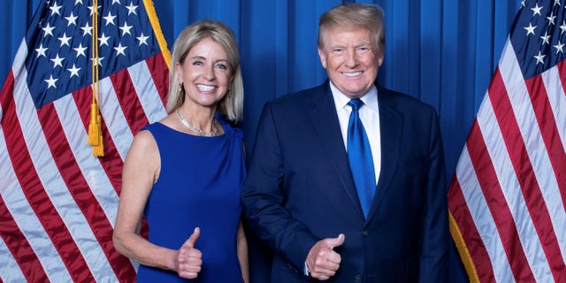
{"label": "smiling face of the woman in the blue dress", "polygon": [[185,88],[185,101],[213,107],[222,100],[233,79],[226,51],[210,38],[196,43],[185,61],[177,63],[177,79]]}

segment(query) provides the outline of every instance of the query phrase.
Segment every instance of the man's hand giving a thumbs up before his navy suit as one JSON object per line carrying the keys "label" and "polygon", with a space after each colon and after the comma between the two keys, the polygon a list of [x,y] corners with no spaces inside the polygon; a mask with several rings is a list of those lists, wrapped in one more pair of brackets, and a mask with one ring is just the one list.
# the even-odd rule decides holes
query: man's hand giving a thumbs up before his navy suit
{"label": "man's hand giving a thumbs up before his navy suit", "polygon": [[342,257],[333,249],[340,247],[345,239],[344,234],[340,233],[336,238],[326,238],[317,241],[307,256],[310,277],[327,280],[336,274],[336,271],[340,268]]}

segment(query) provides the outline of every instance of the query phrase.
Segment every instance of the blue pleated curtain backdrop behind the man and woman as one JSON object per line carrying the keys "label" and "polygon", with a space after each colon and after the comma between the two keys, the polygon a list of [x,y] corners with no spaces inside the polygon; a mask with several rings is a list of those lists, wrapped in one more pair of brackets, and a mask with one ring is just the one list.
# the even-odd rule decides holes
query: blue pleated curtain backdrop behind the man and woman
{"label": "blue pleated curtain backdrop behind the man and woman", "polygon": [[[432,104],[439,112],[449,181],[507,40],[518,0],[154,0],[170,48],[180,30],[199,19],[222,20],[233,28],[241,49],[246,99],[241,126],[249,148],[266,101],[325,80],[317,56],[318,18],[347,2],[377,3],[385,10],[386,56],[379,81]],[[0,4],[0,85],[38,3]],[[254,260],[256,254],[251,256]],[[465,281],[459,259],[452,256],[452,281]],[[263,281],[257,276],[261,275],[254,274],[256,281]]]}

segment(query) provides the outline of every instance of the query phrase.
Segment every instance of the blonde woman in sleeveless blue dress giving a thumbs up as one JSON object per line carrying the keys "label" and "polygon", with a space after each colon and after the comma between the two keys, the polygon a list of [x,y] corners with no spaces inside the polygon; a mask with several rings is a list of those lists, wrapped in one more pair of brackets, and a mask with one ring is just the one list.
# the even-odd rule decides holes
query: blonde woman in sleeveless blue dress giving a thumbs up
{"label": "blonde woman in sleeveless blue dress giving a thumbs up", "polygon": [[248,282],[242,133],[224,120],[237,122],[243,108],[232,30],[212,20],[186,27],[169,85],[169,114],[136,134],[126,156],[114,246],[141,264],[138,282]]}

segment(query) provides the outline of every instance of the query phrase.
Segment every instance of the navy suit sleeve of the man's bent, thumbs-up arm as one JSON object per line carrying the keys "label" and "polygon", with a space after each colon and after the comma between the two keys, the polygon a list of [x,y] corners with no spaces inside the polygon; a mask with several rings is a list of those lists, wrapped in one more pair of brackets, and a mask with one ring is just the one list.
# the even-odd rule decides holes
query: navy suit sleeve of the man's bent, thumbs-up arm
{"label": "navy suit sleeve of the man's bent, thumbs-up arm", "polygon": [[302,272],[310,248],[319,240],[285,207],[285,152],[279,140],[278,123],[267,103],[257,126],[256,142],[249,160],[248,177],[242,191],[246,218],[278,256]]}

